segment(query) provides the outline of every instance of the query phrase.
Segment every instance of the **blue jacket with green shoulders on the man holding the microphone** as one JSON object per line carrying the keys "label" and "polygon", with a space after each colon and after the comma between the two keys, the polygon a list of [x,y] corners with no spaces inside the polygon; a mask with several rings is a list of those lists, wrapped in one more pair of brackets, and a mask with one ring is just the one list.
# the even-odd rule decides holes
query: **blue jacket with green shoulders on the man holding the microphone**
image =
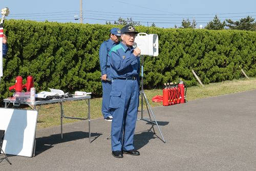
{"label": "blue jacket with green shoulders on the man holding the microphone", "polygon": [[137,77],[140,85],[140,58],[133,54],[134,47],[128,48],[122,42],[110,51],[110,77],[125,79]]}

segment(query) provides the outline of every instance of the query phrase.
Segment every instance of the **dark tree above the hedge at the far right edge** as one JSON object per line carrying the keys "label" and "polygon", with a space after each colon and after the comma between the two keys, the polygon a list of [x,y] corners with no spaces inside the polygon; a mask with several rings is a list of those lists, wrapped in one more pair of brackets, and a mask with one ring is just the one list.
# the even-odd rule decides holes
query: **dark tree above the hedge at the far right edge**
{"label": "dark tree above the hedge at the far right edge", "polygon": [[[230,19],[226,20],[227,27],[231,30],[247,30],[256,31],[255,18],[251,18],[249,15],[246,18],[242,18],[240,21],[233,22]],[[254,23],[253,23],[254,22]]]}

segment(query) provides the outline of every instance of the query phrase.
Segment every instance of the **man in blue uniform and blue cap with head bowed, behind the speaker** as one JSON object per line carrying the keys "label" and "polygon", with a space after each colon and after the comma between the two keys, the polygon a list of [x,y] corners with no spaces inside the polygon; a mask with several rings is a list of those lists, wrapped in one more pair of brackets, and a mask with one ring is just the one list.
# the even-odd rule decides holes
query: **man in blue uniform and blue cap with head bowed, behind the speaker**
{"label": "man in blue uniform and blue cap with head bowed, behind the speaker", "polygon": [[110,39],[104,41],[100,45],[99,49],[99,61],[101,68],[101,79],[102,79],[102,105],[101,112],[106,121],[112,121],[111,109],[109,108],[110,103],[110,91],[111,91],[111,81],[110,79],[110,55],[109,52],[112,47],[119,44],[121,36],[121,30],[119,28],[113,28],[110,30]]}

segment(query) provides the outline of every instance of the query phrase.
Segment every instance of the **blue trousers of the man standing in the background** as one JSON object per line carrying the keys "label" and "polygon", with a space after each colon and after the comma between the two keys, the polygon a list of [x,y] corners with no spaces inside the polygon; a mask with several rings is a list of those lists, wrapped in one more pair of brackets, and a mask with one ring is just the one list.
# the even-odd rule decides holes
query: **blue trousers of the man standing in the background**
{"label": "blue trousers of the man standing in the background", "polygon": [[[106,68],[107,79],[110,79],[110,68]],[[102,105],[101,112],[104,119],[111,116],[111,109],[109,108],[110,104],[110,92],[111,92],[111,81],[103,81],[102,80]]]}

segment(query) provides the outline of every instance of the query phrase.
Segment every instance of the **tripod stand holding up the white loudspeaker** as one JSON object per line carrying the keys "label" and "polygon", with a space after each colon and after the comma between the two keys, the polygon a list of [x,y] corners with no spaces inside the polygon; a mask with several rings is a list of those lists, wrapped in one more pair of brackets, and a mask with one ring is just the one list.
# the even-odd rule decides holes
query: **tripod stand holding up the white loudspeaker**
{"label": "tripod stand holding up the white loudspeaker", "polygon": [[[161,132],[161,130],[160,130],[160,128],[159,128],[159,125],[158,125],[158,123],[157,123],[157,121],[156,121],[156,118],[155,118],[155,116],[154,116],[154,113],[153,113],[153,111],[152,111],[152,109],[151,109],[151,107],[150,107],[150,104],[148,103],[148,101],[147,101],[147,99],[146,99],[146,95],[145,95],[145,92],[144,92],[144,90],[143,90],[143,66],[144,66],[144,57],[143,57],[143,55],[141,55],[141,60],[142,60],[142,62],[141,62],[141,64],[142,64],[142,66],[141,66],[141,91],[140,91],[140,93],[141,93],[141,119],[137,119],[137,121],[139,120],[139,121],[150,122],[150,123],[152,124],[152,128],[153,128],[153,130],[154,130],[154,134],[156,134],[156,132],[155,132],[155,129],[154,129],[154,125],[153,125],[153,124],[157,125],[157,127],[158,127],[158,129],[159,129],[159,131],[160,131],[160,134],[161,134],[161,136],[162,136],[162,138],[163,138],[162,132]],[[148,111],[148,116],[150,117],[150,118],[148,118],[148,119],[144,119],[144,118],[143,118],[143,97],[144,97],[144,99],[145,99],[145,104],[146,104],[146,108],[147,108],[147,111]],[[150,107],[152,116],[154,117],[154,120],[155,120],[155,121],[152,121],[151,116],[150,116],[150,111],[148,110],[148,107]],[[109,137],[106,138],[106,139],[108,140],[108,139],[110,138],[110,136],[111,136],[111,133],[110,133]],[[163,138],[163,142],[165,143],[164,138]]]}

